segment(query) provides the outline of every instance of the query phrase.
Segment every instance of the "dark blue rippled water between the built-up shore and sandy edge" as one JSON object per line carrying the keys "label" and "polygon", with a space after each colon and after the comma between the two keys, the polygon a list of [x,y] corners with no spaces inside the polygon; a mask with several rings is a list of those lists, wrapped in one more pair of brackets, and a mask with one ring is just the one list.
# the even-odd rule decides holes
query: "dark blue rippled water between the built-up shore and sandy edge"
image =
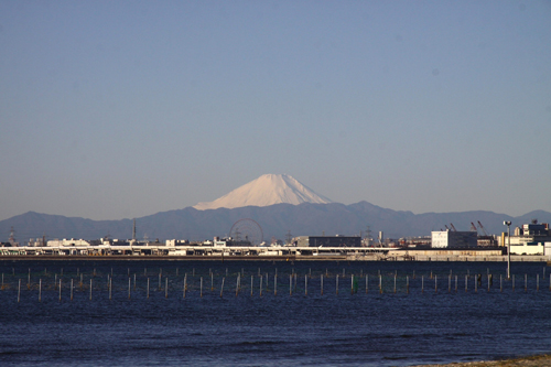
{"label": "dark blue rippled water between the built-up shore and sandy edge", "polygon": [[514,262],[514,290],[504,262],[2,261],[0,365],[410,366],[550,353],[550,270]]}

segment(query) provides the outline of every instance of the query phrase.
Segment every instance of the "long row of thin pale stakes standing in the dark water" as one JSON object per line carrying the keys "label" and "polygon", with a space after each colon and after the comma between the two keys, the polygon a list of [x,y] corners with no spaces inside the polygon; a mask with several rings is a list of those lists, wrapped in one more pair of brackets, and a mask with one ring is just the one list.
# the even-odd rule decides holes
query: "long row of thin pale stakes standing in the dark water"
{"label": "long row of thin pale stakes standing in the dark water", "polygon": [[[14,269],[12,269],[12,273],[13,273],[13,277],[15,274],[14,272]],[[545,268],[543,268],[543,277],[544,277],[544,273],[545,273]],[[44,274],[47,276],[47,271],[44,270]],[[78,288],[80,291],[84,290],[85,285],[84,285],[84,274],[79,271],[79,269],[77,269],[77,276],[79,274],[79,283],[78,283]],[[162,290],[162,269],[160,270],[159,272],[159,291]],[[214,272],[212,271],[212,269],[209,269],[209,276],[210,276],[210,292],[213,292],[215,290],[215,287],[214,287]],[[58,291],[58,295],[60,295],[60,301],[62,300],[62,289],[63,289],[63,285],[65,285],[63,283],[63,280],[61,277],[63,277],[63,269],[61,271],[61,277],[60,279],[57,279],[57,274],[54,276],[55,277],[55,280],[54,280],[54,290]],[[94,269],[94,272],[93,272],[93,277],[96,278],[97,277],[97,272],[96,272],[96,269]],[[147,269],[144,269],[144,277],[147,277]],[[176,278],[179,277],[179,269],[176,269]],[[192,273],[192,277],[195,278],[195,269],[193,269],[193,273]],[[228,269],[226,269],[226,277],[223,277],[222,279],[222,284],[220,284],[220,298],[224,295],[224,287],[225,287],[225,281],[226,281],[226,278],[228,277]],[[241,287],[241,279],[245,277],[245,271],[244,269],[241,269],[241,272],[237,273],[237,278],[236,278],[236,287],[235,287],[235,294],[236,296],[242,291],[242,287]],[[343,269],[343,278],[345,278],[345,269]],[[350,274],[350,293],[354,294],[354,293],[357,293],[358,292],[358,283],[361,281],[361,278],[364,278],[365,280],[365,292],[368,293],[369,291],[369,274],[364,274],[363,271],[360,272],[359,277],[358,276],[355,276],[355,274]],[[112,299],[112,268],[111,268],[111,272],[110,274],[108,273],[107,274],[107,290],[108,290],[108,293],[109,293],[109,300]],[[264,291],[264,287],[266,287],[266,291],[268,291],[268,282],[269,282],[269,278],[268,278],[268,273],[266,274],[260,274],[260,269],[258,271],[258,278],[259,278],[259,295],[262,296],[262,292]],[[296,287],[298,287],[298,273],[294,272],[294,269],[292,271],[291,274],[289,274],[289,294],[292,295],[293,293],[296,293]],[[328,279],[329,276],[328,276],[328,271],[326,270],[325,271],[325,279]],[[391,278],[391,277],[390,277]],[[398,278],[398,272],[395,271],[395,274],[393,274],[393,293],[397,293],[397,278]],[[445,277],[444,277],[445,278]],[[465,291],[468,291],[468,279],[471,278],[471,274],[467,273],[465,274]],[[266,279],[266,281],[264,281]],[[309,279],[312,279],[312,270],[310,269],[310,272],[304,276],[304,294],[307,295],[309,294]],[[415,279],[415,273],[413,271],[413,277],[412,279]],[[431,274],[429,277],[429,279],[434,279],[434,291],[437,292],[439,290],[439,278],[437,278],[437,274],[433,274],[432,271],[431,271]],[[474,277],[474,290],[475,292],[478,291],[478,287],[482,288],[482,274],[475,274]],[[203,298],[203,291],[204,291],[204,278],[201,277],[199,279],[199,296]],[[511,287],[512,287],[512,291],[515,291],[515,274],[511,276]],[[487,273],[487,290],[488,292],[490,291],[490,287],[493,285],[493,281],[494,281],[494,277],[493,274],[489,273],[489,270],[488,270],[488,273]],[[503,282],[504,282],[504,277],[500,274],[499,276],[499,289],[500,291],[503,291],[504,287],[503,287]],[[336,294],[338,294],[338,284],[339,283],[339,274],[336,274],[335,276],[335,292]],[[273,276],[273,294],[277,295],[278,294],[278,273],[277,273],[277,269],[276,269],[276,274]],[[551,274],[549,277],[549,290],[551,291]],[[187,273],[184,274],[184,280],[183,280],[183,285],[182,285],[182,292],[183,292],[183,298],[185,299],[186,296],[186,293],[190,291],[190,283],[187,282]],[[454,287],[453,287],[454,285]],[[28,277],[28,283],[26,283],[26,287],[29,290],[32,289],[32,283],[31,283],[31,269],[29,269],[29,277]],[[447,291],[449,292],[452,292],[452,287],[453,289],[455,290],[455,292],[457,292],[458,290],[458,276],[455,274],[455,277],[453,278],[452,276],[452,271],[450,271],[450,274],[447,276]],[[7,284],[4,283],[4,273],[2,273],[2,283],[1,283],[1,290],[4,290],[7,289]],[[39,290],[39,301],[42,301],[42,279],[39,280],[39,283],[37,283],[37,290]],[[47,288],[46,288],[47,289]],[[71,279],[71,300],[73,301],[73,296],[74,296],[74,290],[75,290],[75,282],[74,282],[74,279]],[[137,274],[134,273],[133,274],[133,290],[136,291],[137,289]],[[425,289],[425,278],[424,276],[421,277],[421,292],[424,292],[424,289]],[[536,290],[539,291],[540,289],[540,278],[539,278],[539,274],[537,274],[536,277]],[[89,299],[91,300],[93,298],[93,290],[94,290],[94,282],[93,282],[93,278],[89,279],[89,287],[88,287],[88,290],[89,290]],[[128,269],[128,299],[131,299],[131,290],[132,290],[132,277],[130,277],[130,269]],[[255,290],[255,276],[251,276],[250,277],[250,295],[253,295],[253,290]],[[377,287],[377,290],[382,293],[383,292],[383,277],[382,274],[378,273],[378,287]],[[410,291],[410,277],[409,276],[406,276],[406,292],[409,293]],[[525,291],[528,291],[528,274],[525,274]],[[323,295],[324,294],[324,274],[320,274],[320,292],[321,294]],[[169,277],[165,277],[164,278],[164,295],[165,298],[169,298]],[[150,278],[147,278],[147,298],[149,299],[150,298]],[[21,279],[19,279],[18,281],[18,302],[21,301]]]}

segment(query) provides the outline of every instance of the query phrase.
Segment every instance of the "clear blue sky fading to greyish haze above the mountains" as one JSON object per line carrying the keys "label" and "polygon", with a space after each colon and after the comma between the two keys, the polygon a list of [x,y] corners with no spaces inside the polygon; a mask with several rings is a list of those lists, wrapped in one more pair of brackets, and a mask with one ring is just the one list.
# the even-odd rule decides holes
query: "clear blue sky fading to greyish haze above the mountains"
{"label": "clear blue sky fading to greyish haze above the mountains", "polygon": [[140,217],[287,173],[551,212],[550,1],[0,1],[0,219]]}

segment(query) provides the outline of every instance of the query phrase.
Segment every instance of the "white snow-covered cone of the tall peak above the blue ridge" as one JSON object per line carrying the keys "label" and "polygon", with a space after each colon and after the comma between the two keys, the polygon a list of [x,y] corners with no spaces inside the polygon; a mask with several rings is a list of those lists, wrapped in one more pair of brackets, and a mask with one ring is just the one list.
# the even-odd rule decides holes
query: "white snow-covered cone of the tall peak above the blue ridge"
{"label": "white snow-covered cone of the tall peak above the blue ridge", "polygon": [[332,203],[287,174],[264,174],[233,192],[208,203],[198,203],[198,211],[219,207],[236,208],[244,206],[269,206],[274,204]]}

